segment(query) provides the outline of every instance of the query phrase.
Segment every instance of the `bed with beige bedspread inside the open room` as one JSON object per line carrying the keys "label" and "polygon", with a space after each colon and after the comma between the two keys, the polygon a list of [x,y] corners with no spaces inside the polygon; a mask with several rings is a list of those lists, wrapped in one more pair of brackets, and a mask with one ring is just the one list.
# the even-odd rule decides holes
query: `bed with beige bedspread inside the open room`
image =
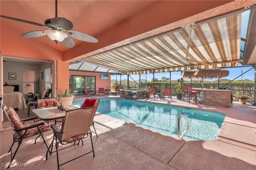
{"label": "bed with beige bedspread inside the open room", "polygon": [[14,86],[4,86],[4,104],[14,109],[26,109],[25,99],[19,91],[14,91]]}

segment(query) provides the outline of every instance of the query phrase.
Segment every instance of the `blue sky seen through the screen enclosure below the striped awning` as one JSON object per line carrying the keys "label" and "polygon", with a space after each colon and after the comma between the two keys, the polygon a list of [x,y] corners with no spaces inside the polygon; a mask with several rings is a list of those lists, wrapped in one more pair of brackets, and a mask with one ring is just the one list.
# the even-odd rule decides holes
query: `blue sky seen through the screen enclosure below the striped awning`
{"label": "blue sky seen through the screen enclosure below the striped awning", "polygon": [[[239,63],[238,66],[241,66],[241,64]],[[239,76],[238,78],[236,78],[234,81],[236,80],[245,80],[245,79],[249,79],[254,81],[254,68],[251,69],[252,66],[250,67],[230,67],[230,68],[222,68],[222,69],[226,69],[229,71],[229,75],[228,77],[223,77],[223,79],[230,79],[233,80],[236,77],[238,77],[239,75],[241,75],[242,73],[244,73],[241,76]],[[248,71],[249,69],[251,69],[250,71]],[[245,73],[246,71],[248,71],[247,73]],[[134,80],[138,80],[139,79],[139,75],[130,75]],[[170,73],[166,72],[166,73],[155,73],[154,77],[157,78],[158,80],[161,80],[162,77],[170,77]],[[116,79],[117,81],[120,81],[120,75],[111,75],[111,79]],[[153,78],[153,74],[142,74],[141,75],[141,79],[147,79],[147,81],[151,81]],[[171,72],[171,80],[178,80],[181,78],[181,71],[175,71],[175,72]],[[121,79],[127,79],[127,75],[122,75]],[[132,80],[131,78],[129,78],[129,80]],[[215,81],[218,79],[204,79],[204,81]],[[190,79],[184,79],[184,81],[190,81]]]}

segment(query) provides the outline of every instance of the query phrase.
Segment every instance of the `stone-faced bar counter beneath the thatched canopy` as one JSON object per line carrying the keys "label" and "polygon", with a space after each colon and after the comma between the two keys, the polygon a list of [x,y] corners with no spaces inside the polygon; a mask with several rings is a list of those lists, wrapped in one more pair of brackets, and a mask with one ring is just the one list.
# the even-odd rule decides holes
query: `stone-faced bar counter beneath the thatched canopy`
{"label": "stone-faced bar counter beneath the thatched canopy", "polygon": [[231,107],[231,90],[193,89],[200,91],[197,95],[199,103],[210,106]]}

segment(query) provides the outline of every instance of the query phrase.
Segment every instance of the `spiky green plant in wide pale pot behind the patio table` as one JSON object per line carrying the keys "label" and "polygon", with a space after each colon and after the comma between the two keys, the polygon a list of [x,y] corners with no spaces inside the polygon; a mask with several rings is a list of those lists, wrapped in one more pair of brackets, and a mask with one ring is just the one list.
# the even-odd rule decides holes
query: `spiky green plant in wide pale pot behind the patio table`
{"label": "spiky green plant in wide pale pot behind the patio table", "polygon": [[63,92],[59,91],[57,97],[58,102],[63,106],[71,106],[76,93],[69,93],[68,88]]}

